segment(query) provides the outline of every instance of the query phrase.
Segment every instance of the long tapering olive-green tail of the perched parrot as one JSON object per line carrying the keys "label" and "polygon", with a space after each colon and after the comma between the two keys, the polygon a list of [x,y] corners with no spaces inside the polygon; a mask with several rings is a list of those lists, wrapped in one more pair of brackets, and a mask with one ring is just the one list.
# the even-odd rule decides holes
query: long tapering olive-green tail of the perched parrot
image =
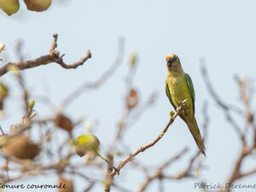
{"label": "long tapering olive-green tail of the perched parrot", "polygon": [[206,156],[206,152],[205,152],[206,148],[201,138],[201,134],[200,134],[198,125],[196,123],[195,116],[193,115],[193,118],[191,120],[186,121],[186,124],[189,126],[189,131],[194,137],[197,147],[200,149],[201,153]]}

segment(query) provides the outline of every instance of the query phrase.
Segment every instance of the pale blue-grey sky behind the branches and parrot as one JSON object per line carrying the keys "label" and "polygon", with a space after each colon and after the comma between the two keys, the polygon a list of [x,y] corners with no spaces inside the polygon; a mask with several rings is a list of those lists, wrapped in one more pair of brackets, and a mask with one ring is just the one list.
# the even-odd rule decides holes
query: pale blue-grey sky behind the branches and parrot
{"label": "pale blue-grey sky behind the branches and parrot", "polygon": [[[58,48],[66,53],[65,61],[73,62],[91,50],[92,58],[84,66],[66,70],[52,63],[48,66],[26,70],[26,83],[36,95],[49,96],[55,105],[61,103],[67,93],[86,80],[94,80],[106,71],[117,54],[119,37],[125,38],[125,60],[121,67],[100,90],[79,96],[66,110],[73,119],[83,115],[90,120],[99,120],[96,136],[100,139],[102,150],[107,146],[115,132],[117,120],[124,108],[125,75],[128,73],[128,58],[131,52],[139,56],[134,86],[139,90],[140,102],[147,101],[153,91],[158,99],[153,108],[126,132],[125,143],[131,151],[151,142],[166,125],[169,111],[173,110],[165,93],[166,55],[178,55],[183,70],[189,73],[195,86],[196,119],[203,124],[201,108],[209,101],[210,125],[207,139],[207,159],[201,177],[170,182],[166,180],[166,191],[201,191],[194,189],[194,183],[204,180],[207,183],[223,183],[230,173],[240,143],[208,95],[203,83],[199,59],[204,56],[212,84],[218,95],[229,103],[239,101],[234,75],[255,78],[256,63],[256,3],[253,0],[238,1],[153,1],[153,0],[73,0],[71,2],[53,1],[51,7],[42,13],[27,11],[21,3],[20,11],[9,17],[0,11],[0,43],[6,44],[6,61],[17,61],[13,50],[18,39],[25,42],[26,59],[49,53],[52,34],[59,34]],[[4,62],[0,61],[0,65]],[[4,75],[4,82],[17,86],[11,74]],[[12,88],[14,95],[17,88]],[[255,104],[254,104],[255,105]],[[43,105],[38,103],[36,109]],[[240,103],[237,103],[241,107]],[[22,110],[20,102],[14,100],[7,104],[7,119],[1,125],[8,130],[9,125],[19,122]],[[13,113],[13,111],[16,113]],[[19,111],[20,110],[20,111]],[[46,115],[46,108],[38,112]],[[239,119],[238,119],[239,120]],[[240,119],[241,120],[241,119]],[[196,145],[188,128],[181,119],[176,119],[166,136],[154,148],[140,154],[137,158],[150,166],[177,154],[189,146],[186,155],[177,166],[168,169],[175,174],[184,167],[189,156],[195,153]],[[107,147],[106,147],[107,148]],[[106,149],[105,148],[105,149]],[[256,157],[255,157],[256,158]],[[255,160],[247,160],[245,168],[251,167]],[[126,189],[135,190],[143,182],[143,175],[127,172],[127,166],[116,181]],[[126,172],[125,172],[126,171]],[[124,173],[124,174],[123,174]],[[21,183],[55,183],[50,177],[32,178]],[[238,183],[252,184],[254,177]],[[76,184],[77,191],[83,183]],[[132,188],[131,188],[132,187]],[[158,191],[158,183],[152,183],[148,192]],[[102,184],[93,191],[102,191]],[[17,190],[18,191],[18,190]],[[32,191],[32,190],[31,190]],[[38,190],[39,191],[39,190]],[[42,190],[44,191],[44,190]],[[113,189],[112,191],[118,191]],[[234,189],[240,191],[242,189]]]}

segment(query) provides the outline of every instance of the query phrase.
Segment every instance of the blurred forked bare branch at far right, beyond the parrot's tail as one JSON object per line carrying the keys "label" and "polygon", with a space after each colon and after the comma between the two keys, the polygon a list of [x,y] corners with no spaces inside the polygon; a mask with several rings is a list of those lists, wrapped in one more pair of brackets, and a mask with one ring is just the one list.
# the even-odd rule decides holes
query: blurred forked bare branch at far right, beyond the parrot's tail
{"label": "blurred forked bare branch at far right, beyond the parrot's tail", "polygon": [[[233,166],[232,171],[230,172],[230,176],[226,181],[226,183],[233,184],[237,180],[241,179],[242,177],[247,177],[249,175],[253,175],[254,173],[256,173],[255,168],[247,172],[241,171],[241,165],[243,161],[246,159],[247,156],[253,155],[253,151],[255,150],[255,147],[256,147],[256,144],[255,144],[256,136],[253,136],[254,141],[251,145],[247,144],[248,137],[252,137],[252,135],[247,132],[247,127],[251,125],[253,131],[255,131],[255,125],[253,124],[253,112],[250,107],[250,103],[251,103],[250,94],[252,89],[247,89],[247,81],[243,80],[243,82],[241,82],[240,79],[238,80],[236,79],[240,88],[239,90],[240,90],[241,102],[243,102],[245,106],[245,110],[243,113],[247,117],[245,122],[246,128],[243,131],[241,131],[241,128],[236,124],[235,119],[230,114],[230,109],[231,109],[230,106],[224,103],[223,101],[221,101],[219,99],[219,96],[217,95],[217,92],[213,89],[211,81],[208,77],[207,69],[205,67],[205,63],[204,63],[205,61],[201,61],[201,62],[203,64],[203,67],[201,68],[201,73],[203,75],[204,82],[207,85],[207,90],[209,91],[210,96],[212,96],[212,99],[218,104],[218,107],[223,110],[227,121],[230,123],[230,125],[232,125],[233,129],[236,131],[236,134],[238,135],[241,142],[241,150],[238,154],[237,159],[235,160],[235,164]],[[241,115],[241,114],[238,114],[238,115]],[[207,190],[205,189],[204,191],[207,191]],[[224,188],[218,191],[230,192],[230,188]]]}

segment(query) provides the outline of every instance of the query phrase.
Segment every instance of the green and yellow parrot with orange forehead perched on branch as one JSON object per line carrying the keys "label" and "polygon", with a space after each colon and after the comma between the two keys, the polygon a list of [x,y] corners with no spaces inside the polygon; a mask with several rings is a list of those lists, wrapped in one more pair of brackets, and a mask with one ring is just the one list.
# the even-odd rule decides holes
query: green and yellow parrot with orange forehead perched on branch
{"label": "green and yellow parrot with orange forehead perched on branch", "polygon": [[166,96],[169,98],[173,108],[178,108],[180,102],[186,100],[186,107],[179,115],[188,125],[189,131],[195,139],[197,147],[201,153],[205,153],[205,145],[201,138],[198,125],[195,120],[195,90],[189,74],[183,72],[177,55],[166,56],[167,78],[166,78]]}

